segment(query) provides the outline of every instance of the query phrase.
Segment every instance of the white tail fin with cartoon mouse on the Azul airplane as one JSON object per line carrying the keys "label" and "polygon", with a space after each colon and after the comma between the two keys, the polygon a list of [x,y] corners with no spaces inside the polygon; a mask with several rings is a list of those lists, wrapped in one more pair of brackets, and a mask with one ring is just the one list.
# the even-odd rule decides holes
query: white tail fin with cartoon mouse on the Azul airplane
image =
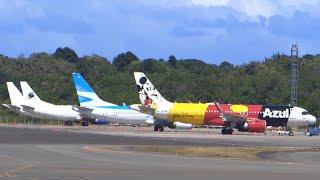
{"label": "white tail fin with cartoon mouse on the Azul airplane", "polygon": [[157,109],[159,106],[167,106],[170,103],[161,96],[144,73],[134,72],[134,79],[143,105]]}

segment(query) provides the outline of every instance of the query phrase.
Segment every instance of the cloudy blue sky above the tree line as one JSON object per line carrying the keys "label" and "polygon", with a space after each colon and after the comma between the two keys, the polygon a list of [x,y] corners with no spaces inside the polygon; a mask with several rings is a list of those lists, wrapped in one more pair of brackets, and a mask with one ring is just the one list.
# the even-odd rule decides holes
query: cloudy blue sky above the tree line
{"label": "cloudy blue sky above the tree line", "polygon": [[0,0],[0,53],[70,47],[112,60],[175,55],[218,64],[320,52],[320,0]]}

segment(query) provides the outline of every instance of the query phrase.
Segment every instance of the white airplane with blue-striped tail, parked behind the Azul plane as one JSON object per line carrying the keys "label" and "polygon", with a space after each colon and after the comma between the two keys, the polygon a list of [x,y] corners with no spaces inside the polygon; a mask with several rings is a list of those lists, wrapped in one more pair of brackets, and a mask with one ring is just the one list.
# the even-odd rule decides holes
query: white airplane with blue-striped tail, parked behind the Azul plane
{"label": "white airplane with blue-striped tail, parked behind the Azul plane", "polygon": [[72,73],[74,85],[80,102],[79,110],[85,112],[94,119],[105,119],[119,124],[153,124],[152,115],[144,114],[130,109],[123,104],[121,106],[103,101],[90,87],[80,73]]}

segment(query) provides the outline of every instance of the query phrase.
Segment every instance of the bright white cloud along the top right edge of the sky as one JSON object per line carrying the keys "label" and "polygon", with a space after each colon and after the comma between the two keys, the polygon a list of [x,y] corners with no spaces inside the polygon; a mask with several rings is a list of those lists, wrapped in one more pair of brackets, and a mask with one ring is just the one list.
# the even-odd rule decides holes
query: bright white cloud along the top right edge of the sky
{"label": "bright white cloud along the top right edge of the sky", "polygon": [[251,19],[259,16],[270,18],[274,15],[291,16],[296,11],[318,13],[320,0],[158,0],[137,2],[151,6],[161,7],[226,7],[241,12]]}

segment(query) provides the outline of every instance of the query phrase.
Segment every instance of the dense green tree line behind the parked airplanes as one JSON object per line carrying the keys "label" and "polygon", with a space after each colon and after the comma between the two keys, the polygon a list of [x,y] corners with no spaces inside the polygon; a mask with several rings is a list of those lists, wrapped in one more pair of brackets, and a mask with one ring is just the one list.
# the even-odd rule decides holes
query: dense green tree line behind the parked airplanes
{"label": "dense green tree line behind the parked airplanes", "polygon": [[[10,103],[5,82],[28,81],[39,97],[55,104],[78,104],[71,73],[80,72],[104,100],[139,103],[134,71],[146,73],[170,101],[244,104],[289,104],[290,57],[234,65],[208,64],[198,59],[139,59],[128,51],[112,60],[99,55],[79,57],[71,48],[53,54],[33,53],[11,58],[0,54],[0,103]],[[320,115],[320,55],[299,58],[298,105]],[[0,116],[13,114],[5,108]]]}

